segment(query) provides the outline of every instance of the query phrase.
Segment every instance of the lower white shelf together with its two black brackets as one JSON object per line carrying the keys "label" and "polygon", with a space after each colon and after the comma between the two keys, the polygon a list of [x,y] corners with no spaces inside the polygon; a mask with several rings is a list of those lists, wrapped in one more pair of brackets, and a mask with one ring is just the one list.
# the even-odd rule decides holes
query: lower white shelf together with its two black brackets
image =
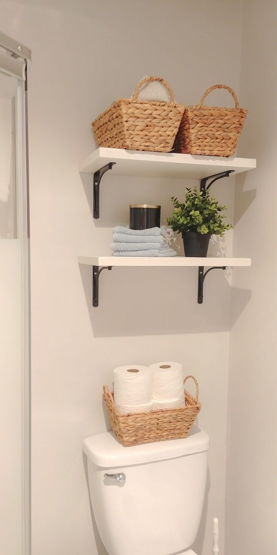
{"label": "lower white shelf together with its two black brackets", "polygon": [[[99,300],[99,276],[102,270],[111,270],[113,266],[121,267],[160,267],[173,268],[180,266],[198,266],[198,304],[203,302],[203,284],[206,275],[211,270],[225,270],[226,266],[250,266],[250,258],[219,258],[217,256],[197,258],[194,256],[79,256],[79,264],[93,266],[93,306],[98,306]],[[208,266],[204,272],[204,266]]]}

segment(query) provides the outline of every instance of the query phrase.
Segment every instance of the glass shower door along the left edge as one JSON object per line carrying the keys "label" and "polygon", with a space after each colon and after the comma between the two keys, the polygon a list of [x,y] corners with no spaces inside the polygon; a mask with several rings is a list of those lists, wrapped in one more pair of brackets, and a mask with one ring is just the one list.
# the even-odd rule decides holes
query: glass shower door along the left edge
{"label": "glass shower door along the left edge", "polygon": [[29,551],[29,244],[24,79],[0,67],[0,553]]}

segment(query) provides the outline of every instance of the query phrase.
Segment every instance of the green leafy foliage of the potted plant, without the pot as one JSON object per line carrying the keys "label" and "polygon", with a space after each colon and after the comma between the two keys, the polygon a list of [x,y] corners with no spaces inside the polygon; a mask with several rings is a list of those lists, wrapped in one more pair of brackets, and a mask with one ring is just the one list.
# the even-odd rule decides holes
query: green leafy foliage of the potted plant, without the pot
{"label": "green leafy foliage of the potted plant, without the pot", "polygon": [[167,224],[173,231],[198,231],[202,235],[211,233],[214,235],[224,235],[224,231],[232,228],[231,224],[225,224],[223,219],[226,217],[223,212],[226,206],[220,206],[209,191],[203,196],[197,187],[193,191],[187,189],[186,201],[179,203],[178,199],[171,198],[174,210],[170,218],[166,218]]}

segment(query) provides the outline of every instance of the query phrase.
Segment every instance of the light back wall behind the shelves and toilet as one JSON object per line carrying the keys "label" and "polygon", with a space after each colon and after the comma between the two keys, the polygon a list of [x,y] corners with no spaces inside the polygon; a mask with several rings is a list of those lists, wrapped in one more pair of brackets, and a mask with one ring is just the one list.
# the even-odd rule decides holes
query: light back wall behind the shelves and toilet
{"label": "light back wall behind the shelves and toilet", "polygon": [[[197,103],[214,83],[239,85],[240,2],[233,0],[2,1],[3,32],[32,49],[29,70],[32,264],[33,555],[103,555],[91,522],[82,457],[85,436],[106,429],[102,384],[117,365],[175,359],[200,383],[199,423],[211,437],[208,501],[195,549],[212,549],[212,517],[224,541],[229,276],[209,274],[197,304],[197,269],[113,269],[91,307],[91,269],[78,255],[109,253],[111,228],[131,202],[169,213],[182,181],[105,176],[101,217],[78,164],[95,148],[90,122],[129,96],[145,74]],[[232,99],[222,92],[224,103]],[[223,98],[220,97],[220,98]],[[211,102],[220,102],[213,93]],[[193,182],[189,182],[190,185]],[[232,179],[214,189],[233,206]],[[232,220],[232,210],[229,219]],[[232,239],[232,235],[230,235]],[[232,241],[229,239],[229,243]],[[232,245],[229,245],[229,248]],[[247,270],[242,270],[242,272]],[[236,305],[239,315],[241,305]]]}

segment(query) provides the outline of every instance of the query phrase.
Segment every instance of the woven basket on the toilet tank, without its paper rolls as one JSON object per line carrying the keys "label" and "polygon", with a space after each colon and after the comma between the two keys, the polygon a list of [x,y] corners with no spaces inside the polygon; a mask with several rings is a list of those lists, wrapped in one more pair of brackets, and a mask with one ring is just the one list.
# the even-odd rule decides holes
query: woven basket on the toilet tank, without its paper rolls
{"label": "woven basket on the toilet tank, without its paper rolls", "polygon": [[184,390],[186,407],[155,410],[152,412],[134,412],[121,415],[117,411],[114,395],[106,385],[103,387],[103,397],[107,412],[110,417],[111,427],[120,443],[125,447],[139,445],[140,443],[151,443],[153,441],[175,440],[186,437],[192,427],[201,404],[198,401],[198,383],[194,376],[192,378],[196,385],[196,398]]}

